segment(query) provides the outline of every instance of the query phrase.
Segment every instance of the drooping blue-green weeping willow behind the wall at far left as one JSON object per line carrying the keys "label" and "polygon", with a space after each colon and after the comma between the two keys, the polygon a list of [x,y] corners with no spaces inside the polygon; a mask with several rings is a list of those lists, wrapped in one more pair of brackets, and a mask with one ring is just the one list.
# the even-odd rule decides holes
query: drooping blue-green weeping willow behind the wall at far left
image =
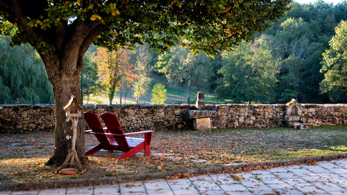
{"label": "drooping blue-green weeping willow behind the wall at far left", "polygon": [[52,86],[32,46],[11,48],[0,36],[0,104],[53,103]]}

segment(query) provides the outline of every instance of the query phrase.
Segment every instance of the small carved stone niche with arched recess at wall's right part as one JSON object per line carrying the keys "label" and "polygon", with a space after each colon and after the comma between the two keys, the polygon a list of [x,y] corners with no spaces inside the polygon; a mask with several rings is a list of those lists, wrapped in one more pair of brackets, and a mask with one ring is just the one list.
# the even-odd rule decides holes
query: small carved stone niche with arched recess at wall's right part
{"label": "small carved stone niche with arched recess at wall's right part", "polygon": [[286,103],[285,117],[287,127],[295,129],[308,129],[310,124],[303,121],[302,117],[302,105],[295,99],[291,99],[290,102]]}

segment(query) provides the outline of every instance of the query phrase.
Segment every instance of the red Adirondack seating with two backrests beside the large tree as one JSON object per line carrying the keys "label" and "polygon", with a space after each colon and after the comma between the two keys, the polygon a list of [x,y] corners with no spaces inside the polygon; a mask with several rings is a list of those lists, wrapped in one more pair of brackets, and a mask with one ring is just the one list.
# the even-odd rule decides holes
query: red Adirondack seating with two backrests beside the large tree
{"label": "red Adirondack seating with two backrests beside the large tree", "polygon": [[[103,113],[101,118],[106,124],[106,127],[102,127],[98,115],[92,112],[84,112],[84,119],[91,129],[84,131],[84,133],[94,134],[100,142],[98,145],[86,151],[86,155],[92,155],[101,149],[108,150],[109,152],[113,152],[114,150],[125,152],[118,159],[129,158],[142,150],[145,150],[146,156],[150,155],[152,133],[155,131],[146,130],[142,132],[124,133],[116,115]],[[107,133],[104,130],[107,130]],[[137,134],[144,134],[145,138],[127,137]]]}

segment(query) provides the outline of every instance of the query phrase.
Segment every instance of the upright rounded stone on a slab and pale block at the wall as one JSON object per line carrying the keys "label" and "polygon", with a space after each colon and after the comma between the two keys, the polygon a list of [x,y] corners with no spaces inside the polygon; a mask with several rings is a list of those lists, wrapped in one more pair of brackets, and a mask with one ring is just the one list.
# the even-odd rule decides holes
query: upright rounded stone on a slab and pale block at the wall
{"label": "upright rounded stone on a slab and pale block at the wall", "polygon": [[215,110],[205,110],[205,94],[202,91],[197,93],[195,107],[198,110],[188,110],[188,118],[193,119],[193,128],[195,130],[211,130],[210,117],[217,116]]}

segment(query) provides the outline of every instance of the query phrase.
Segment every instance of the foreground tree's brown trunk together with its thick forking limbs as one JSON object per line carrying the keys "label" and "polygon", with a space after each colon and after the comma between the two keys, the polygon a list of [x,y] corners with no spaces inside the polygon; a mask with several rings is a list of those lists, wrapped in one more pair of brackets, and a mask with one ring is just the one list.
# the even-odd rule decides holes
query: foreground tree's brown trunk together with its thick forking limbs
{"label": "foreground tree's brown trunk together with its thick forking limbs", "polygon": [[[27,35],[23,37],[30,37],[29,44],[34,48],[37,47],[48,80],[53,86],[56,109],[55,147],[54,153],[46,165],[57,164],[60,166],[72,146],[73,136],[72,122],[67,119],[63,107],[69,102],[71,95],[76,96],[77,102],[82,105],[79,73],[84,65],[83,56],[93,40],[108,29],[112,23],[102,24],[100,20],[75,18],[71,23],[68,20],[60,20],[56,25],[41,29],[27,24],[29,18],[40,17],[41,11],[39,10],[47,7],[46,2],[37,1],[34,5],[27,3],[27,1],[11,0],[5,1],[6,4],[8,7],[4,7],[4,9],[1,7],[1,10],[5,10],[5,13],[8,12],[6,17],[9,22],[17,23],[20,26],[19,31]],[[33,6],[30,6],[31,4]],[[76,151],[81,163],[86,161],[83,124],[82,116],[78,122],[76,137]]]}

